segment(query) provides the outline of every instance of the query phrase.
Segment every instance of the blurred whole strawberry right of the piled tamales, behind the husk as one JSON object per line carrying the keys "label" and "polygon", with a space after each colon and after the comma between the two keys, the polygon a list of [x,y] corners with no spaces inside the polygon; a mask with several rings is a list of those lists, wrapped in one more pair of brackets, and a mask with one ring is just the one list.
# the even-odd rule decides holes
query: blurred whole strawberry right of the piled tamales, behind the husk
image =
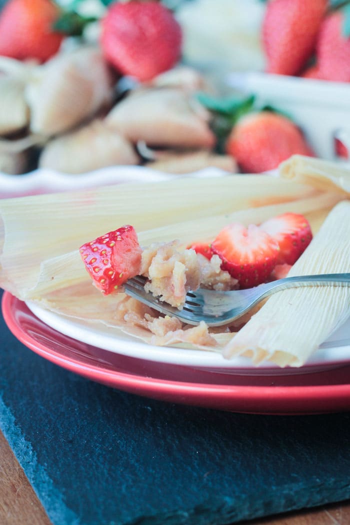
{"label": "blurred whole strawberry right of the piled tamales, behind the husk", "polygon": [[241,117],[228,137],[226,150],[245,173],[272,170],[295,153],[313,156],[296,125],[271,111]]}

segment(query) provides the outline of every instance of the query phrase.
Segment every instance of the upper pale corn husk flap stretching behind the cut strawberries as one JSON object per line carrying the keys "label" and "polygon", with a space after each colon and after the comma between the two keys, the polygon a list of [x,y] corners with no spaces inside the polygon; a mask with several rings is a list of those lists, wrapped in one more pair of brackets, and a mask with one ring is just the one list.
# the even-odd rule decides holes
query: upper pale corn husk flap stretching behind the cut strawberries
{"label": "upper pale corn husk flap stretching behind the cut strawberries", "polygon": [[[45,281],[43,268],[46,264],[52,262],[55,266],[55,258],[62,257],[62,269],[69,269],[73,276],[73,266],[65,267],[64,264],[66,254],[73,250],[73,254],[78,253],[81,244],[123,224],[132,224],[137,233],[144,236],[141,240],[144,246],[174,238],[188,243],[193,238],[215,233],[213,216],[222,214],[221,223],[224,223],[228,220],[224,214],[241,210],[248,219],[249,209],[253,213],[260,206],[272,206],[273,209],[275,203],[298,203],[304,197],[315,199],[316,206],[326,207],[323,202],[318,204],[319,195],[310,186],[267,175],[228,175],[3,199],[0,201],[3,225],[0,284],[6,279],[4,288],[20,299],[34,298],[39,281],[40,286],[45,283],[49,291],[61,285],[64,288],[66,278],[63,276],[59,285],[57,271],[54,281]],[[198,224],[192,232],[177,226],[188,220],[194,222],[192,228]],[[159,225],[162,227],[152,232]],[[18,253],[25,257],[18,257]],[[80,256],[77,260],[77,279],[72,279],[89,283]],[[46,292],[42,289],[40,293]]]}

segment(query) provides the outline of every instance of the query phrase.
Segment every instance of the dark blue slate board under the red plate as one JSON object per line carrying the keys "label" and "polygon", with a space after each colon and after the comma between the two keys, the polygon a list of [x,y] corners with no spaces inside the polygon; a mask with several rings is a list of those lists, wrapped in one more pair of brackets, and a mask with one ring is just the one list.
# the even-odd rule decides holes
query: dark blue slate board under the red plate
{"label": "dark blue slate board under the red plate", "polygon": [[350,497],[350,414],[147,400],[40,358],[0,324],[0,426],[55,525],[218,525]]}

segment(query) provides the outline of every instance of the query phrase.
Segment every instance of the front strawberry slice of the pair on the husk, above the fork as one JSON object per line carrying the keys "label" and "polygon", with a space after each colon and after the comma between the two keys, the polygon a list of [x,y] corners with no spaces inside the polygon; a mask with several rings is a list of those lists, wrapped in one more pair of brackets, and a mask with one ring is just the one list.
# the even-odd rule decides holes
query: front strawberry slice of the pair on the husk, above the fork
{"label": "front strawberry slice of the pair on the husk, above the fork", "polygon": [[266,281],[278,256],[278,243],[254,224],[248,228],[232,223],[222,229],[211,244],[222,259],[221,268],[239,281],[241,288],[250,288]]}

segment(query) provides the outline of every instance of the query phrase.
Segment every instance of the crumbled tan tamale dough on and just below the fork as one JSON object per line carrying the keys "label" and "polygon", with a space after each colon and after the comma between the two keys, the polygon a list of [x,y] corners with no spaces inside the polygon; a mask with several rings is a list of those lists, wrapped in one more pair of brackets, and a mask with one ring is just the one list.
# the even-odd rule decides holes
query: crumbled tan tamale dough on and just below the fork
{"label": "crumbled tan tamale dough on and just below the fork", "polygon": [[[194,250],[181,249],[178,241],[153,244],[143,250],[140,274],[151,279],[145,285],[147,291],[162,300],[180,306],[185,301],[189,289],[199,285],[214,290],[237,288],[237,280],[220,268],[217,255],[209,261]],[[156,310],[145,304],[125,297],[116,308],[116,319],[128,325],[142,327],[153,334],[151,343],[169,345],[188,342],[197,345],[215,346],[216,341],[210,335],[205,322],[193,327],[183,324],[176,317],[161,316]],[[228,327],[210,329],[211,333],[230,331]]]}

